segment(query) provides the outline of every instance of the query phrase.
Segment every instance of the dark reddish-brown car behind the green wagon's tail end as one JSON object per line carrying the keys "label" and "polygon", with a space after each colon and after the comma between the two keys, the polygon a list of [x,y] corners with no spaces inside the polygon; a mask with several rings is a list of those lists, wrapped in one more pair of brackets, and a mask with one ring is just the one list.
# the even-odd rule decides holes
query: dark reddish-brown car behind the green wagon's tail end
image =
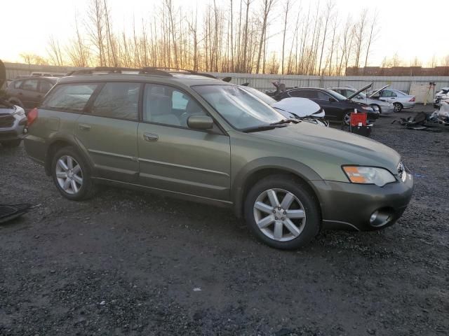
{"label": "dark reddish-brown car behind the green wagon's tail end", "polygon": [[18,78],[9,83],[6,97],[11,104],[24,109],[32,109],[39,105],[43,96],[56,84],[58,78],[32,76]]}

